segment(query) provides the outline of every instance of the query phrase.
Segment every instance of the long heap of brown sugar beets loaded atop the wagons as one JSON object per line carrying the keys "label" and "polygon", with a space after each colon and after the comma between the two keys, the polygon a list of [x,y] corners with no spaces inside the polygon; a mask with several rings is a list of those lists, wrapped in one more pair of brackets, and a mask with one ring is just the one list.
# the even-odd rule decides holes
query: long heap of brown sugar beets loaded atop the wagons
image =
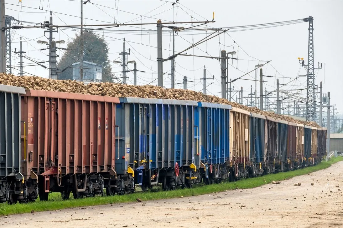
{"label": "long heap of brown sugar beets loaded atop the wagons", "polygon": [[46,90],[58,91],[67,93],[93,94],[100,96],[112,97],[142,97],[142,98],[162,98],[162,99],[178,99],[178,100],[195,100],[201,102],[210,102],[218,104],[232,105],[233,107],[247,110],[249,112],[258,113],[264,116],[269,116],[275,119],[281,119],[288,122],[302,123],[308,126],[319,127],[315,122],[305,122],[295,120],[291,117],[278,115],[273,112],[262,111],[255,107],[247,107],[234,102],[229,102],[226,99],[212,95],[204,95],[203,93],[183,90],[183,89],[163,89],[154,85],[127,85],[117,83],[90,83],[75,80],[53,80],[35,76],[14,76],[0,73],[0,84],[20,86],[29,90]]}

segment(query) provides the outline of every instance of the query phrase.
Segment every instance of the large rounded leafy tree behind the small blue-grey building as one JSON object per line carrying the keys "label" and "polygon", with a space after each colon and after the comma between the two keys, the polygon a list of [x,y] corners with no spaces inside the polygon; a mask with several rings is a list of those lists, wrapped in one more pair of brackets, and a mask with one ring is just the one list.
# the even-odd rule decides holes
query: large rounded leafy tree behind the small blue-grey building
{"label": "large rounded leafy tree behind the small blue-grey building", "polygon": [[[83,32],[83,61],[96,63],[103,66],[102,81],[113,82],[114,76],[111,74],[110,61],[108,59],[108,43],[103,37],[92,32]],[[73,40],[68,40],[67,50],[57,63],[58,71],[63,72],[58,74],[58,79],[72,79],[73,63],[80,62],[80,34],[75,34]],[[86,53],[86,54],[85,54]],[[66,69],[67,68],[67,69]]]}

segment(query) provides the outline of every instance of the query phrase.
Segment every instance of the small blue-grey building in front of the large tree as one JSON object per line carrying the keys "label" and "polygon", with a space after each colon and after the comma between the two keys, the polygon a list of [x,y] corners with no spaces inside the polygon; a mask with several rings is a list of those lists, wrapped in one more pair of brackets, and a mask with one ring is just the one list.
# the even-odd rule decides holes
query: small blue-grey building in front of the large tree
{"label": "small blue-grey building in front of the large tree", "polygon": [[[80,62],[72,64],[73,80],[80,81]],[[103,66],[83,61],[83,76],[82,81],[85,83],[101,82],[103,74]]]}

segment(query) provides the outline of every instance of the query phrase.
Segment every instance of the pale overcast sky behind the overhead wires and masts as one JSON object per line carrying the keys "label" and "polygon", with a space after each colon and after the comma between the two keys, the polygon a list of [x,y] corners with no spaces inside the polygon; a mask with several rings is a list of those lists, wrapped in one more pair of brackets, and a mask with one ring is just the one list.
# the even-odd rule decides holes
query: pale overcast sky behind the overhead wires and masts
{"label": "pale overcast sky behind the overhead wires and masts", "polygon": [[[84,0],[85,1],[85,0]],[[53,24],[55,25],[79,25],[80,24],[80,1],[79,0],[5,0],[5,14],[11,15],[15,19],[25,22],[40,23],[49,20],[49,12],[52,11]],[[91,4],[93,3],[93,4]],[[210,27],[230,27],[238,25],[253,25],[280,21],[289,21],[293,19],[314,17],[314,56],[315,67],[318,62],[323,63],[323,68],[316,70],[315,83],[323,81],[323,92],[331,93],[331,104],[337,106],[337,111],[343,113],[343,1],[202,1],[202,0],[179,0],[178,6],[171,5],[169,1],[134,1],[134,0],[91,0],[91,3],[83,5],[84,23],[91,28],[92,24],[108,23],[155,23],[157,19],[162,22],[186,22],[212,20],[212,12],[215,12],[215,23],[209,23]],[[116,10],[118,9],[118,10]],[[28,23],[23,23],[23,25]],[[195,24],[193,24],[194,26]],[[187,27],[187,25],[178,25]],[[188,26],[192,26],[191,24]],[[204,26],[201,26],[205,28]],[[93,27],[95,28],[95,27]],[[98,27],[97,27],[98,28]],[[121,30],[121,31],[120,31]],[[138,31],[122,31],[138,30]],[[142,32],[140,30],[143,30]],[[237,30],[237,29],[236,29]],[[234,79],[251,71],[255,65],[265,63],[271,60],[270,64],[263,67],[263,74],[274,76],[274,78],[265,78],[263,85],[268,91],[276,88],[276,79],[280,83],[286,84],[289,81],[291,86],[283,86],[282,89],[303,89],[306,86],[306,77],[300,77],[294,80],[298,75],[306,75],[306,70],[301,67],[297,57],[304,57],[307,63],[308,52],[308,23],[299,23],[281,27],[236,31],[230,30],[220,36],[213,38],[203,44],[187,51],[194,55],[219,56],[220,50],[226,49],[236,51],[234,57],[238,61],[229,61],[229,78]],[[163,33],[163,57],[171,55],[172,43],[170,30],[165,28]],[[75,32],[79,29],[60,29],[54,33],[55,40],[71,40]],[[191,43],[197,42],[210,34],[211,31],[182,31],[176,35],[176,52],[189,47]],[[125,38],[126,49],[130,49],[130,60],[137,62],[138,70],[146,73],[138,73],[138,84],[147,84],[157,78],[157,40],[156,26],[120,26],[111,30],[99,31],[95,33],[104,36],[109,44],[110,61],[119,60],[118,53],[122,51],[123,38]],[[23,50],[27,56],[35,61],[47,61],[48,50],[39,51],[38,49],[46,46],[37,44],[37,40],[45,40],[44,29],[20,29],[12,30],[12,46],[19,49],[19,39],[23,37]],[[48,34],[47,34],[48,36]],[[66,44],[60,45],[65,47]],[[63,52],[59,51],[60,56]],[[260,61],[258,61],[260,60]],[[19,65],[19,58],[12,53],[12,65]],[[28,59],[25,64],[32,63]],[[113,72],[121,71],[121,66],[112,64]],[[178,56],[176,58],[176,83],[182,82],[183,76],[187,76],[188,89],[202,91],[203,84],[200,78],[203,77],[204,65],[207,69],[206,77],[212,77],[214,80],[208,80],[208,93],[221,96],[221,69],[218,60],[200,57]],[[132,69],[132,64],[128,69]],[[19,69],[19,68],[17,68]],[[18,70],[13,73],[18,74]],[[41,77],[48,77],[48,70],[40,66],[25,67],[26,75],[32,74]],[[170,87],[170,61],[164,62],[163,72],[165,73],[164,86]],[[116,73],[117,74],[117,73]],[[259,74],[259,73],[258,73]],[[133,84],[133,74],[128,73],[130,77],[128,83]],[[168,78],[169,77],[169,78]],[[253,71],[244,79],[254,79]],[[151,84],[157,84],[155,80]],[[249,96],[250,86],[255,91],[255,82],[249,80],[237,80],[233,83],[236,89],[243,86],[244,96]],[[182,88],[182,84],[176,85],[176,88]],[[259,85],[257,86],[257,96],[259,96]],[[306,91],[306,90],[305,90]],[[301,91],[304,94],[305,91]],[[293,91],[294,93],[295,91]],[[238,93],[233,93],[235,99]],[[274,98],[272,98],[274,99]],[[246,104],[246,100],[244,101]]]}

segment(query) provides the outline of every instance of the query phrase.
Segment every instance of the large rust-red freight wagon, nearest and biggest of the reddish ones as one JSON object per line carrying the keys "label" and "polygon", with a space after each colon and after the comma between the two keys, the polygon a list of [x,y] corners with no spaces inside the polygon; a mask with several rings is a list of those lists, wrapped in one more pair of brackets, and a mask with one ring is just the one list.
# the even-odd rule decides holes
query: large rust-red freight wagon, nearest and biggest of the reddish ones
{"label": "large rust-red freight wagon, nearest and biggest of the reddish ones", "polygon": [[61,192],[64,199],[70,191],[74,198],[102,194],[116,176],[119,99],[26,90],[21,103],[21,118],[27,123],[23,175],[38,179],[40,200],[47,200],[49,191]]}

